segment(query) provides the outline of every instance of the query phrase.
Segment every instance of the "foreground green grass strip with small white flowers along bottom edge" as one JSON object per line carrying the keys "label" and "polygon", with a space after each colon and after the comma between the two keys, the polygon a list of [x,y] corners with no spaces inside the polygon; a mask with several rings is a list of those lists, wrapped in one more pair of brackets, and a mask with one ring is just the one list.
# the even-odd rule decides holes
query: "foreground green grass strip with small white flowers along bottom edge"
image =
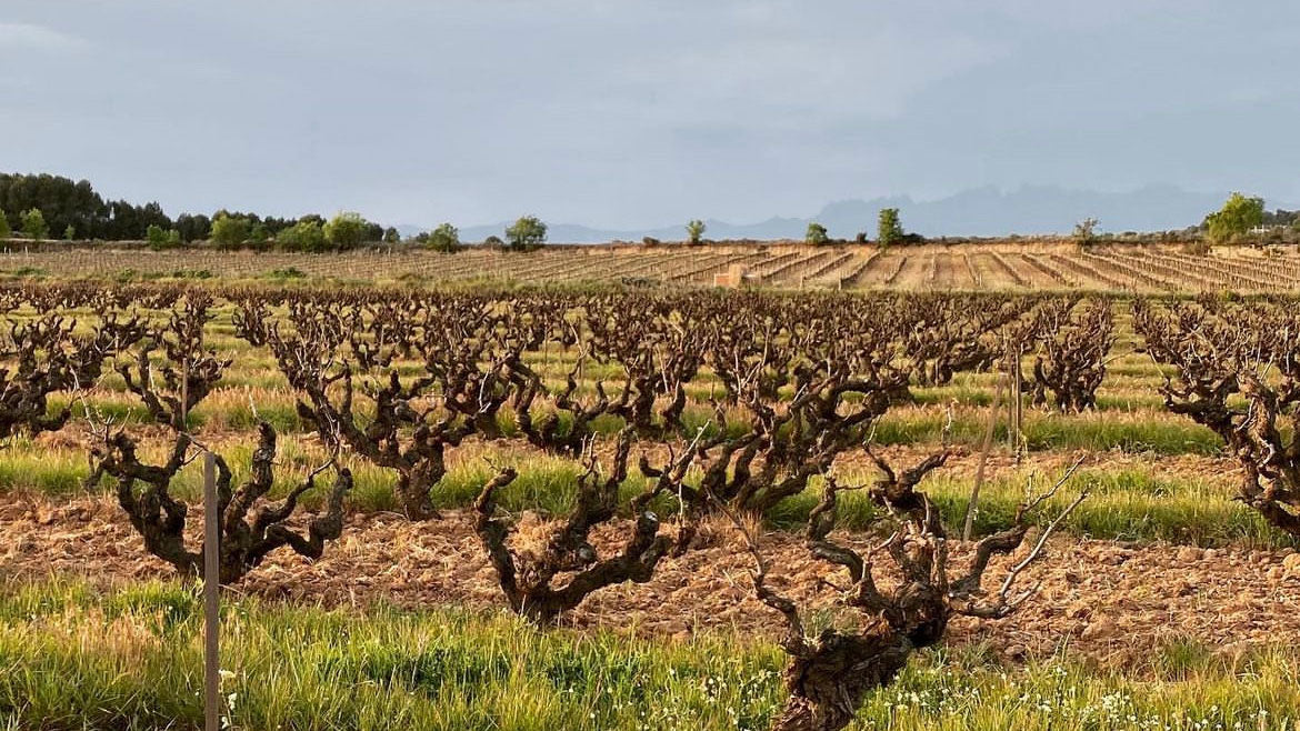
{"label": "foreground green grass strip with small white flowers along bottom edge", "polygon": [[[0,728],[196,728],[200,606],[176,584],[105,594],[0,587]],[[228,598],[222,715],[235,728],[541,731],[764,728],[783,700],[774,645],[540,631],[504,614]],[[1174,641],[1128,671],[1069,654],[1002,666],[924,653],[871,693],[859,730],[1231,731],[1300,717],[1290,648],[1225,659]]]}

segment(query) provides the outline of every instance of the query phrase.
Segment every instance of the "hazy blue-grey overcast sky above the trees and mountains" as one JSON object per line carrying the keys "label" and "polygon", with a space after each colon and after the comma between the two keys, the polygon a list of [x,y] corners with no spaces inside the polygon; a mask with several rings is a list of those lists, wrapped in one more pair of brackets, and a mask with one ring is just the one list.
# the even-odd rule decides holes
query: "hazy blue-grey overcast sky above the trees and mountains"
{"label": "hazy blue-grey overcast sky above the trees and mountains", "polygon": [[0,170],[390,224],[1026,183],[1294,204],[1297,69],[1294,0],[4,0]]}

